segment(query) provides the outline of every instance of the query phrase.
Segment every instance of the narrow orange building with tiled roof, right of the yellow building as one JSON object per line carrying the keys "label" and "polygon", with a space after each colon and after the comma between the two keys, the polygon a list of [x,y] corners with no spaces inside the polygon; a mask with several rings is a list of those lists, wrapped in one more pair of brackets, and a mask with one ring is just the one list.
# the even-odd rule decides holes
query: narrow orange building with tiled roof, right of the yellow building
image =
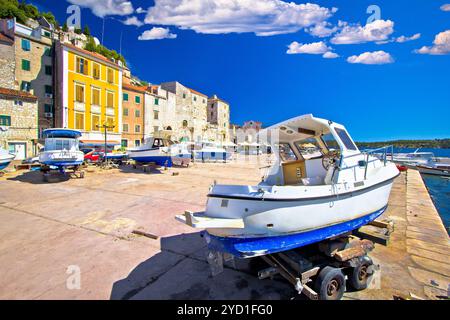
{"label": "narrow orange building with tiled roof, right of the yellow building", "polygon": [[138,147],[144,141],[144,102],[146,87],[124,78],[122,84],[122,147]]}

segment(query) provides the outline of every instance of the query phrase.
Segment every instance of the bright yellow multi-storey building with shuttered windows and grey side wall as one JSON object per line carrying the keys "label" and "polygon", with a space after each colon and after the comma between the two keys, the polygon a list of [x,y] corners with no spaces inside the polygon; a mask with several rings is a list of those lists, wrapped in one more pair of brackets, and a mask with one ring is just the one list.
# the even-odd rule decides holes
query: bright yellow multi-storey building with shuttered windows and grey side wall
{"label": "bright yellow multi-storey building with shuttered windows and grey side wall", "polygon": [[84,145],[120,145],[122,66],[67,43],[56,44],[56,126],[82,132]]}

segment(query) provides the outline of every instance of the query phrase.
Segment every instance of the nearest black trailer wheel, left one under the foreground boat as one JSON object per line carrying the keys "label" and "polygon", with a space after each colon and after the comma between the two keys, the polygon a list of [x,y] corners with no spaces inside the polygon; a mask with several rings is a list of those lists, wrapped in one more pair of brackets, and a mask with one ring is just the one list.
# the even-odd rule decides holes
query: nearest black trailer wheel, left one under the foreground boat
{"label": "nearest black trailer wheel, left one under the foreground boat", "polygon": [[341,269],[326,266],[315,281],[319,300],[340,300],[345,292],[345,277]]}

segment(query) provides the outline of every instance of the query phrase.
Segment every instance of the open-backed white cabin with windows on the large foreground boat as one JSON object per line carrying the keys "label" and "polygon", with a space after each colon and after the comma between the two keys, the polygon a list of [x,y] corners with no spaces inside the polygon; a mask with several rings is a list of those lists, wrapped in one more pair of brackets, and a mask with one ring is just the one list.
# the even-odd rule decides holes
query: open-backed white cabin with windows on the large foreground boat
{"label": "open-backed white cabin with windows on the large foreground boat", "polygon": [[326,185],[336,165],[360,154],[344,126],[312,115],[296,117],[260,133],[268,136],[277,161],[263,180],[268,185]]}

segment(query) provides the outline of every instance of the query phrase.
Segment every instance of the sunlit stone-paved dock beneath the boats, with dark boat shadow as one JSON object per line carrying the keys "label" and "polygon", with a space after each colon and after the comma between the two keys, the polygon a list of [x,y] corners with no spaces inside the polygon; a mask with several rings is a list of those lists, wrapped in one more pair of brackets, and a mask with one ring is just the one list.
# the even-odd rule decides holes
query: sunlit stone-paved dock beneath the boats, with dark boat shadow
{"label": "sunlit stone-paved dock beneath the boats, with dark boat shadow", "polygon": [[[257,183],[262,166],[195,163],[177,175],[94,168],[85,179],[52,184],[39,172],[5,174],[0,298],[304,299],[283,279],[259,280],[249,259],[228,261],[211,277],[199,232],[174,219],[203,210],[214,181]],[[449,237],[417,171],[396,179],[382,218],[394,232],[370,253],[377,276],[344,299],[447,298]]]}

